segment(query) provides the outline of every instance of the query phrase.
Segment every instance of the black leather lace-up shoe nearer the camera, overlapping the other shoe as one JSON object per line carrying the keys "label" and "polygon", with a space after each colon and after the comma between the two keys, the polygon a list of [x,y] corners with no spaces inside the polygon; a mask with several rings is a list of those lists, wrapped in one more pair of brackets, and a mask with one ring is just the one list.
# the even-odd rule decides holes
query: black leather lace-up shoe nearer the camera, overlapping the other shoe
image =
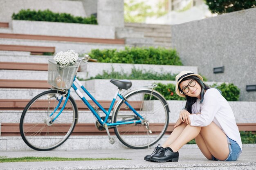
{"label": "black leather lace-up shoe nearer the camera, overlapping the other shoe", "polygon": [[162,152],[151,155],[150,160],[155,162],[177,162],[179,161],[179,152],[173,152],[171,148],[166,147]]}

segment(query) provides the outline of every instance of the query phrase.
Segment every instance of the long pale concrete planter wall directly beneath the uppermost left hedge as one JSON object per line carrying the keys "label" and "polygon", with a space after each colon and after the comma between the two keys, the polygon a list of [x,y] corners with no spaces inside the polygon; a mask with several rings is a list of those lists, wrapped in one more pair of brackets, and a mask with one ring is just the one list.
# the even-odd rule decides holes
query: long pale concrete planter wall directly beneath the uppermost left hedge
{"label": "long pale concrete planter wall directly beneath the uppermost left hedge", "polygon": [[63,22],[12,20],[12,33],[115,39],[113,26]]}

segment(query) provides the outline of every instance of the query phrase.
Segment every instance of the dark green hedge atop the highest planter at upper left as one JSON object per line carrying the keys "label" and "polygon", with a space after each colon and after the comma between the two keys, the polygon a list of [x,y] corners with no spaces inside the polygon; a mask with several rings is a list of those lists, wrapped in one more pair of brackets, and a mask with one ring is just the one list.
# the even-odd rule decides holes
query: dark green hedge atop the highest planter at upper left
{"label": "dark green hedge atop the highest planter at upper left", "polygon": [[22,9],[17,14],[12,14],[13,20],[49,21],[49,22],[68,22],[80,24],[98,24],[97,19],[92,15],[89,18],[75,17],[69,13],[54,13],[49,9],[44,11],[31,11]]}

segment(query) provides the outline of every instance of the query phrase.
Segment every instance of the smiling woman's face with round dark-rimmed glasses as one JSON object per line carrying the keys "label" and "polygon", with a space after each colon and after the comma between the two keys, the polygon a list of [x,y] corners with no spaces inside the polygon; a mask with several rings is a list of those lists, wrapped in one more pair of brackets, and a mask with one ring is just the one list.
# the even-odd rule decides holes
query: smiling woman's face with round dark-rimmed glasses
{"label": "smiling woman's face with round dark-rimmed glasses", "polygon": [[[180,89],[183,89],[184,95],[187,95],[190,97],[197,97],[198,99],[200,99],[201,86],[194,79],[184,80],[179,84],[179,86],[180,86]],[[186,93],[187,91],[188,93]]]}

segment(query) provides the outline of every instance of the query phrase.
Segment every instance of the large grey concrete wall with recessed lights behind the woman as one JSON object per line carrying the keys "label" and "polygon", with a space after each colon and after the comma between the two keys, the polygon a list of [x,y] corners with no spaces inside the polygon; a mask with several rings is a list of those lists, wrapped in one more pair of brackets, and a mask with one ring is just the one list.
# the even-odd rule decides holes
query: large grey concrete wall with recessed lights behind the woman
{"label": "large grey concrete wall with recessed lights behind the woman", "polygon": [[[172,26],[173,47],[182,63],[198,66],[209,81],[234,83],[240,101],[256,101],[256,8]],[[224,73],[213,68],[225,66]]]}

